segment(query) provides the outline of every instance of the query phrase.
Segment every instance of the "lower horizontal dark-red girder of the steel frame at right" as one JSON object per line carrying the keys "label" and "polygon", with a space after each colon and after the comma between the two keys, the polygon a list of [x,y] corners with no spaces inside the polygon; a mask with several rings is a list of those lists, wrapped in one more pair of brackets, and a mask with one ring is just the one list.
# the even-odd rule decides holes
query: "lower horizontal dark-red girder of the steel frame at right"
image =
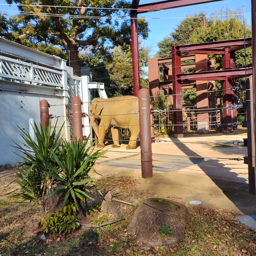
{"label": "lower horizontal dark-red girder of the steel frame at right", "polygon": [[[252,69],[246,70],[247,75],[252,74]],[[225,80],[245,76],[245,69],[225,69],[216,71],[186,73],[177,75],[178,80]]]}

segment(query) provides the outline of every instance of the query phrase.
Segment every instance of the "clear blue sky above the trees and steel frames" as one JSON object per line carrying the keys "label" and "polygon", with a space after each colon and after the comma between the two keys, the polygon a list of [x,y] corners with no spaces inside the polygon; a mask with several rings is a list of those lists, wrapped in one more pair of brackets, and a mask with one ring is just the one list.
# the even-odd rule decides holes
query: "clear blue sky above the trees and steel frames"
{"label": "clear blue sky above the trees and steel frames", "polygon": [[[155,0],[140,0],[140,4],[152,3],[154,1]],[[6,2],[4,0],[0,0],[0,4],[6,4]],[[207,14],[207,17],[210,16],[214,10],[218,11],[221,8],[229,8],[231,10],[240,8],[242,10],[243,4],[245,19],[248,24],[251,24],[251,0],[223,0],[207,4],[197,4],[176,9],[139,14],[139,17],[144,16],[148,18],[148,25],[151,31],[144,44],[152,47],[151,54],[154,55],[158,50],[157,43],[173,31],[173,28],[179,24],[182,17],[185,17],[186,15],[193,15],[195,12],[198,13],[200,11],[204,11]],[[12,11],[14,9],[17,10],[15,6],[8,5],[0,5],[0,9],[7,11]]]}

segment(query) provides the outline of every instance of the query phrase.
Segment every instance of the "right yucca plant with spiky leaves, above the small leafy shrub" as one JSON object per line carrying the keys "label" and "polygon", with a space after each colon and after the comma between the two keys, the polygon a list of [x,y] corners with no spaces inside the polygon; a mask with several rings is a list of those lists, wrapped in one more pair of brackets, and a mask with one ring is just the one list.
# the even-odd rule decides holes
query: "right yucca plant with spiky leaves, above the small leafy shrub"
{"label": "right yucca plant with spiky leaves, above the small leafy shrub", "polygon": [[68,202],[73,202],[78,209],[80,200],[83,200],[86,203],[87,198],[92,199],[87,194],[92,188],[96,189],[101,194],[99,188],[93,182],[94,178],[91,178],[88,173],[91,170],[96,172],[93,165],[99,157],[102,157],[105,154],[106,150],[102,152],[99,152],[99,150],[93,152],[96,145],[95,141],[87,148],[89,137],[90,136],[88,136],[83,145],[81,140],[75,140],[71,143],[63,143],[60,152],[63,157],[58,158],[58,156],[53,155],[59,168],[55,168],[54,165],[48,164],[42,160],[49,170],[51,170],[51,172],[43,172],[62,183],[62,186],[55,187],[55,190],[46,196],[50,196],[50,199],[54,195],[63,193],[62,208]]}

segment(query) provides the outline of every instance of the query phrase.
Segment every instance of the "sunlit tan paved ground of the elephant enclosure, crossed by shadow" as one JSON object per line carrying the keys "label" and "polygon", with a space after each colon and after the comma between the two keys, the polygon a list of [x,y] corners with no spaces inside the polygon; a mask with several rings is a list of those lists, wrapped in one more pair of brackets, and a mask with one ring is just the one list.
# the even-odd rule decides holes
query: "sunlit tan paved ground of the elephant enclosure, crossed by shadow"
{"label": "sunlit tan paved ground of the elephant enclosure, crossed by shadow", "polygon": [[[227,158],[241,158],[247,156],[247,148],[243,144],[228,144],[229,148],[221,148],[217,142],[239,140],[246,138],[246,130],[239,130],[229,135],[214,134],[189,136],[182,139],[167,138],[167,142],[152,144],[153,171],[173,172],[180,174],[209,176],[212,179],[248,183],[248,169],[244,161],[228,160]],[[205,143],[205,144],[198,144]],[[112,143],[106,143],[105,156],[97,164],[118,168],[141,171],[140,147],[126,150],[128,141],[120,148],[111,148]],[[217,147],[216,147],[217,146]],[[220,159],[226,158],[226,159]]]}

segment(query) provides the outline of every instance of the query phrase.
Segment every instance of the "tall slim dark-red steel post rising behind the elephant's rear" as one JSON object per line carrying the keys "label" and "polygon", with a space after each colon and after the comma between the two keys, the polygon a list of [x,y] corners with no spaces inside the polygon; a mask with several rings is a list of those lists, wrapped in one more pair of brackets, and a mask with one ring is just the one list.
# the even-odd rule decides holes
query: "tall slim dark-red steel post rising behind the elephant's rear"
{"label": "tall slim dark-red steel post rising behind the elephant's rear", "polygon": [[139,62],[139,37],[137,12],[131,12],[131,37],[132,37],[132,75],[133,95],[138,97],[140,90],[140,62]]}

